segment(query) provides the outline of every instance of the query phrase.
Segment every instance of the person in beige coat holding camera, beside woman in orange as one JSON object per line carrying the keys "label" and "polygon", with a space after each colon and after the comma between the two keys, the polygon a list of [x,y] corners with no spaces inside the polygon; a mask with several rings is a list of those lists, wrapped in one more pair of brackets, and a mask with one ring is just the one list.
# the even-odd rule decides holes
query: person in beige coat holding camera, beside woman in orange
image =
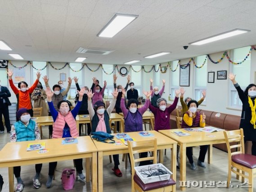
{"label": "person in beige coat holding camera, beside woman in orange", "polygon": [[31,94],[31,99],[34,101],[33,107],[43,107],[42,116],[48,116],[47,106],[45,103],[46,93],[40,81],[38,82],[36,89]]}

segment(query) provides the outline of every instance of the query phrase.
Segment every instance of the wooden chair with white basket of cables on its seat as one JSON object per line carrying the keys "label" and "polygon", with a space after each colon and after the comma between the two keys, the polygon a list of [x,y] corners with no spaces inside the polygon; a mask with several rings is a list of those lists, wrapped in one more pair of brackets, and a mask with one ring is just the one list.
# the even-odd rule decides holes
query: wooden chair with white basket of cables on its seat
{"label": "wooden chair with white basket of cables on its seat", "polygon": [[[135,163],[140,161],[153,160],[153,163],[157,163],[157,139],[144,140],[144,141],[128,141],[128,148],[131,161],[131,191],[139,192],[159,192],[159,191],[173,191],[176,187],[176,183],[173,179],[166,181],[159,181],[154,183],[144,184],[139,176],[135,173]],[[152,152],[152,156],[135,159],[134,154],[141,152]]]}

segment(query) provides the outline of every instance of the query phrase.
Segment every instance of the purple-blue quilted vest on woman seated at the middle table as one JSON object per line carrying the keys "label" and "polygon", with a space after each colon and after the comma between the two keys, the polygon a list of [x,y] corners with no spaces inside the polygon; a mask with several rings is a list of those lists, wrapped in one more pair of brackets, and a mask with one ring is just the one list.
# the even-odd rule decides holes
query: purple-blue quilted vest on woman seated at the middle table
{"label": "purple-blue quilted vest on woman seated at the middle table", "polygon": [[128,112],[125,119],[125,132],[143,131],[142,115],[138,110],[135,113]]}

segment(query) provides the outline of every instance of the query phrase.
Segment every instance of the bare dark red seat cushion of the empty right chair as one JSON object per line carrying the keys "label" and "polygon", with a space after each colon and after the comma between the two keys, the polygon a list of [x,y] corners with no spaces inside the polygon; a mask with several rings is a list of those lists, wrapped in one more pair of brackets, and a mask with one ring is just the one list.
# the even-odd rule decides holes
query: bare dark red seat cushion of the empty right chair
{"label": "bare dark red seat cushion of the empty right chair", "polygon": [[256,156],[249,154],[236,154],[232,156],[232,161],[250,169],[256,168]]}

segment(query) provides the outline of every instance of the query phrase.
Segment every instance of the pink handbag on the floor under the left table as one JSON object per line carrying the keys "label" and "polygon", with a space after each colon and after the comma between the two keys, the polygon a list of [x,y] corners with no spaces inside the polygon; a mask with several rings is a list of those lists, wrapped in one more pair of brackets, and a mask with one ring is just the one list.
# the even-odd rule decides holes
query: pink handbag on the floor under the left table
{"label": "pink handbag on the floor under the left table", "polygon": [[64,190],[70,190],[74,187],[76,180],[76,170],[64,169],[61,174],[61,183]]}

